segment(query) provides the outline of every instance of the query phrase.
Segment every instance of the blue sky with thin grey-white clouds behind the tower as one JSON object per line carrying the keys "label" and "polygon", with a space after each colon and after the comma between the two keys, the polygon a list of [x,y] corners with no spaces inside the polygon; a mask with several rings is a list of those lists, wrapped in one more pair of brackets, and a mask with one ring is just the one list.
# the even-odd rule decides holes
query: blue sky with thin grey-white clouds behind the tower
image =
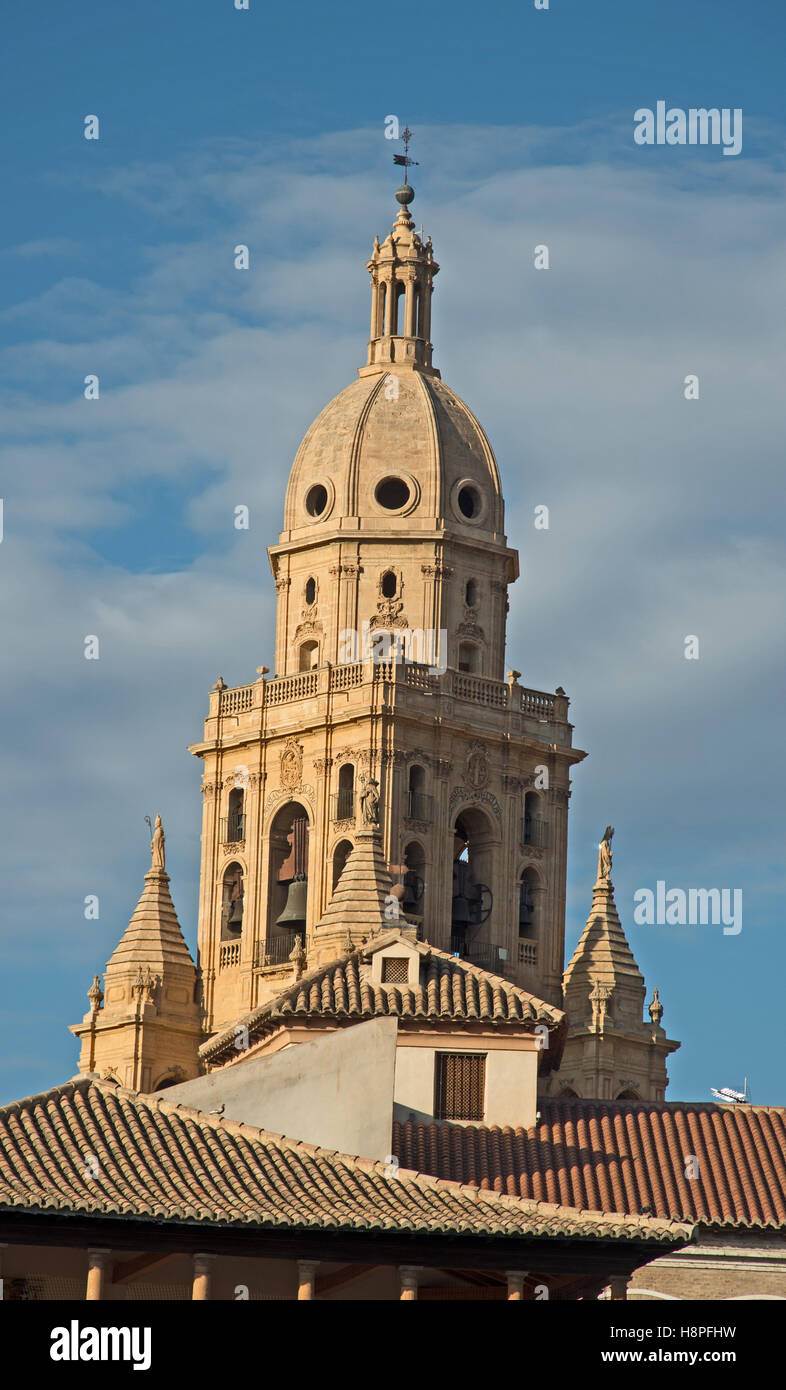
{"label": "blue sky with thin grey-white clouds behind the tower", "polygon": [[[218,671],[271,664],[266,545],[302,434],[363,360],[395,113],[442,265],[435,361],[495,446],[522,553],[509,660],[568,689],[588,752],[568,949],[612,821],[620,916],[683,1042],[669,1097],[747,1074],[783,1102],[782,6],[451,3],[409,24],[259,0],[6,21],[0,1098],[74,1073],[67,1024],[139,895],[146,813],[195,948],[185,748]],[[741,154],[636,147],[633,111],[661,99],[741,107]],[[636,927],[658,878],[741,888],[743,931]]]}

